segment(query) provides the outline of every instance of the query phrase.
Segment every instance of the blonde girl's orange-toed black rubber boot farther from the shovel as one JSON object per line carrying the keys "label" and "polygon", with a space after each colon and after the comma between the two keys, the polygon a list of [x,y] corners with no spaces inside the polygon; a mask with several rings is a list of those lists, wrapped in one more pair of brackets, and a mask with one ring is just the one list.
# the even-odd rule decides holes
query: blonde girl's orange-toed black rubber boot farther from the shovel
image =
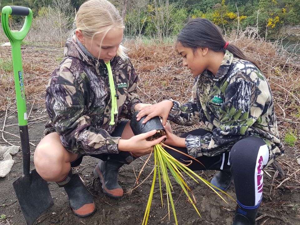
{"label": "blonde girl's orange-toed black rubber boot farther from the shovel", "polygon": [[107,161],[100,161],[94,169],[95,178],[102,183],[103,193],[109,197],[120,198],[124,192],[118,183],[118,171],[124,164],[129,164],[136,158],[128,152],[110,154]]}

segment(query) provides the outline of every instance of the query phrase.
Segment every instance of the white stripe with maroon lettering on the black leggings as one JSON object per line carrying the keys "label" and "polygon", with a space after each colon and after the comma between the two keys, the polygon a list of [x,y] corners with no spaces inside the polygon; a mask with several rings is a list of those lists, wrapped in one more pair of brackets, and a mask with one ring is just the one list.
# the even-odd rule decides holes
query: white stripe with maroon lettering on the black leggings
{"label": "white stripe with maroon lettering on the black leggings", "polygon": [[254,174],[254,182],[255,182],[255,205],[257,205],[262,197],[262,187],[263,187],[263,171],[262,168],[267,164],[269,159],[269,149],[267,145],[263,145],[259,148],[256,166],[255,166],[255,174]]}

